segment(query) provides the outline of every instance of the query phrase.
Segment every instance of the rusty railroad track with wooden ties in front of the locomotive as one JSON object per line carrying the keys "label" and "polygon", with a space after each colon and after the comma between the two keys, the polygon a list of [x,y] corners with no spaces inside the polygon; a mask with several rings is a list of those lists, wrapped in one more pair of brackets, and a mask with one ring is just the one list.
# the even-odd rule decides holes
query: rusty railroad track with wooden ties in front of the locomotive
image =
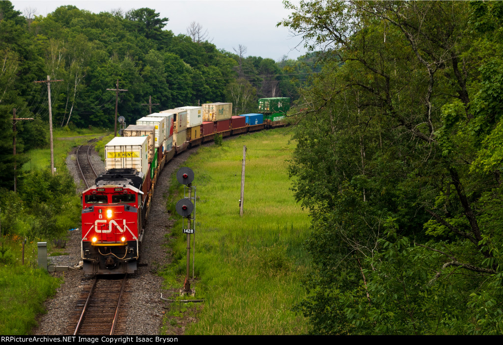
{"label": "rusty railroad track with wooden ties in front of the locomotive", "polygon": [[93,283],[83,288],[67,327],[71,335],[125,334],[127,312],[120,308],[127,296],[127,274],[122,280],[113,276],[96,276]]}

